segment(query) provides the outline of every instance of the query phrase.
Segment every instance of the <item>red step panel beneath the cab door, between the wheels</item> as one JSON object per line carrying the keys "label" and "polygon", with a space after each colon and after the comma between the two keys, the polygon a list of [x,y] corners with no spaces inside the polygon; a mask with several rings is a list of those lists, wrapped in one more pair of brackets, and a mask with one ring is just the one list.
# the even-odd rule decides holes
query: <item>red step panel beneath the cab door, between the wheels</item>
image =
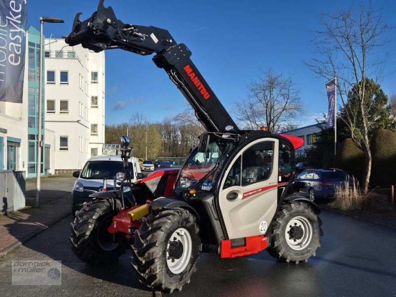
{"label": "red step panel beneath the cab door, between the wheels", "polygon": [[221,241],[221,257],[235,258],[253,253],[267,248],[267,237],[264,235],[250,236],[245,238],[244,247],[231,247],[231,240]]}

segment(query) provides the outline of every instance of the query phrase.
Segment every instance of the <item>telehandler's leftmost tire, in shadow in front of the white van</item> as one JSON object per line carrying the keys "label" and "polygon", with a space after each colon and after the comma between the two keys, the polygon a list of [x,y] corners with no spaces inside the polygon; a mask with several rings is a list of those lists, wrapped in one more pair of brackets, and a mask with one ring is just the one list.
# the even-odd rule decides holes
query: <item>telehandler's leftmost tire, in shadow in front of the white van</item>
{"label": "telehandler's leftmost tire, in shadow in front of the white van", "polygon": [[[121,203],[115,200],[117,209]],[[104,266],[114,263],[126,252],[122,237],[107,232],[108,226],[117,211],[111,209],[107,200],[97,200],[81,209],[71,222],[70,242],[73,252],[84,262],[95,266]]]}

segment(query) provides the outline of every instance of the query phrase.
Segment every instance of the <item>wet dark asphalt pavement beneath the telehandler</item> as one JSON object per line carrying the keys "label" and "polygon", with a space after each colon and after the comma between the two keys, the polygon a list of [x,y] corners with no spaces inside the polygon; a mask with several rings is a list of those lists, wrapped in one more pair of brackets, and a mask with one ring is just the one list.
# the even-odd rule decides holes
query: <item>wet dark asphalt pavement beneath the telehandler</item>
{"label": "wet dark asphalt pavement beneath the telehandler", "polygon": [[[308,263],[280,263],[266,251],[235,259],[201,254],[197,273],[181,292],[163,296],[396,296],[396,233],[323,211],[322,247]],[[68,242],[71,216],[0,261],[1,296],[152,296],[137,280],[128,252],[96,268],[81,262]],[[12,286],[11,260],[62,261],[60,286]]]}

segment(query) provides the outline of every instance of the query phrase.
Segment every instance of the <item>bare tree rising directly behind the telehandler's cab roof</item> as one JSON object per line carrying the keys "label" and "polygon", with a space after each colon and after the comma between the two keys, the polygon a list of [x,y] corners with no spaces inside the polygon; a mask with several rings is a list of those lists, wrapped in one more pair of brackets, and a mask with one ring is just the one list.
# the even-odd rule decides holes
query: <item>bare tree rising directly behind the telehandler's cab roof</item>
{"label": "bare tree rising directly behind the telehandler's cab roof", "polygon": [[300,90],[290,74],[276,73],[272,68],[260,69],[256,79],[247,85],[247,98],[235,103],[236,118],[247,128],[265,126],[276,133],[297,124],[302,112]]}

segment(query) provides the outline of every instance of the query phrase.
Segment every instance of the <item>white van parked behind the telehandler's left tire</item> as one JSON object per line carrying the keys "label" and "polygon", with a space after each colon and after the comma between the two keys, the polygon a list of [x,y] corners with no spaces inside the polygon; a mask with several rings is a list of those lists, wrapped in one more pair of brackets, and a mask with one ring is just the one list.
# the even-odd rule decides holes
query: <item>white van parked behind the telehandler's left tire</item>
{"label": "white van parked behind the telehandler's left tire", "polygon": [[[129,159],[131,168],[132,182],[143,178],[138,158]],[[92,201],[89,196],[96,192],[103,191],[103,179],[106,179],[107,191],[113,191],[114,175],[123,171],[123,161],[119,155],[101,155],[91,157],[85,163],[83,170],[73,172],[73,176],[77,178],[72,190],[72,213],[80,210],[84,202]],[[118,186],[117,186],[118,187]],[[124,188],[126,198],[132,197],[131,189]]]}

